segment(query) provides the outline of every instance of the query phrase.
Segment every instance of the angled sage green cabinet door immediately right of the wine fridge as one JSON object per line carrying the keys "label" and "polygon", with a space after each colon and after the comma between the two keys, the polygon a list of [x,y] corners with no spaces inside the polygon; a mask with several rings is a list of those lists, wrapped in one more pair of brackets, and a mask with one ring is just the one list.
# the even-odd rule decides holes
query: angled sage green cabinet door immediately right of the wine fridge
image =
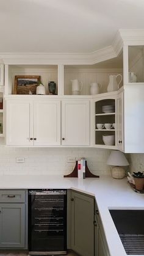
{"label": "angled sage green cabinet door immediately right of the wine fridge", "polygon": [[94,256],[94,199],[71,192],[71,249],[81,256]]}

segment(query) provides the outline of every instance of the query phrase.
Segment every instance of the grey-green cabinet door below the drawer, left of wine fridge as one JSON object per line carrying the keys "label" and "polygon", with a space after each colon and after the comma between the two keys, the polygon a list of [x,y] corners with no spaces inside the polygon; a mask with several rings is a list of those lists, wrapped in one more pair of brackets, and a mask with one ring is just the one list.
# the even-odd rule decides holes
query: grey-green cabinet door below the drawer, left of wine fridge
{"label": "grey-green cabinet door below the drawer, left of wine fridge", "polygon": [[0,203],[0,247],[23,248],[24,240],[24,203]]}

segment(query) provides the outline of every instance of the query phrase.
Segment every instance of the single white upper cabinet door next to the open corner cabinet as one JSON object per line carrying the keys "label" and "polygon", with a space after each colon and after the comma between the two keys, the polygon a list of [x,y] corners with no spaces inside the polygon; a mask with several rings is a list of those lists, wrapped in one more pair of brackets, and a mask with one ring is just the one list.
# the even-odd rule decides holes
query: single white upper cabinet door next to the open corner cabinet
{"label": "single white upper cabinet door next to the open corner cabinet", "polygon": [[63,101],[62,145],[89,145],[89,101]]}

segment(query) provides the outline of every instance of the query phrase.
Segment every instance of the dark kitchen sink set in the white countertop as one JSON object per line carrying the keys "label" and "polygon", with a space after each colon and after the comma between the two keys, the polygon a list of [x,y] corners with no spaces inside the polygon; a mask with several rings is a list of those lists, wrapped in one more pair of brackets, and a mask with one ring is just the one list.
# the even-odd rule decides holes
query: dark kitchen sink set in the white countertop
{"label": "dark kitchen sink set in the white countertop", "polygon": [[144,255],[144,210],[109,210],[126,254]]}

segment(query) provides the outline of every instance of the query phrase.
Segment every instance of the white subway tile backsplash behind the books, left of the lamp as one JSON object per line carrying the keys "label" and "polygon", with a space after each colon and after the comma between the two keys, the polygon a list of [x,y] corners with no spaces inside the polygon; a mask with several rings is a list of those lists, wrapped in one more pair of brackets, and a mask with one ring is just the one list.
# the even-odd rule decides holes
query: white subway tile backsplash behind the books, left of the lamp
{"label": "white subway tile backsplash behind the books, left of the lamp", "polygon": [[[106,161],[110,151],[99,148],[9,148],[0,146],[0,175],[64,175],[74,164],[67,157],[85,157],[93,174],[110,174]],[[25,163],[16,163],[24,157]]]}

